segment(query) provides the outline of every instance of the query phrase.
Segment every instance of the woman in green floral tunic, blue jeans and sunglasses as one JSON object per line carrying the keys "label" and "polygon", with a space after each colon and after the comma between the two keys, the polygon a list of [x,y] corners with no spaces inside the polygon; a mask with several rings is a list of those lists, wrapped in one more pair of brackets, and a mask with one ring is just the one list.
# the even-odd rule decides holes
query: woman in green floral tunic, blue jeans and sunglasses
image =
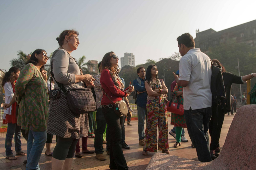
{"label": "woman in green floral tunic, blue jeans and sunglasses", "polygon": [[29,130],[27,169],[39,169],[38,162],[47,140],[48,91],[47,73],[44,70],[47,60],[45,50],[36,49],[21,70],[15,85],[19,104],[17,125]]}

